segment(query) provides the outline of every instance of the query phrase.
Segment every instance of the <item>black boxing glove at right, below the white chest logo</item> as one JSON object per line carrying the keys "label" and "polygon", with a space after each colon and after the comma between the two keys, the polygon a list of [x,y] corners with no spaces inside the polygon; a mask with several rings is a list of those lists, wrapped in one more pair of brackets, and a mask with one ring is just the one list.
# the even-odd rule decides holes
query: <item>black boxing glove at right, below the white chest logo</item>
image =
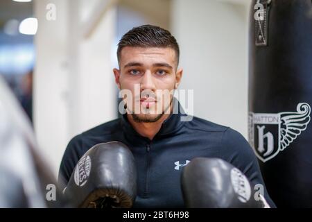
{"label": "black boxing glove at right, below the white chest logo", "polygon": [[218,158],[197,157],[182,172],[182,193],[186,207],[263,208],[255,200],[248,178],[236,167]]}

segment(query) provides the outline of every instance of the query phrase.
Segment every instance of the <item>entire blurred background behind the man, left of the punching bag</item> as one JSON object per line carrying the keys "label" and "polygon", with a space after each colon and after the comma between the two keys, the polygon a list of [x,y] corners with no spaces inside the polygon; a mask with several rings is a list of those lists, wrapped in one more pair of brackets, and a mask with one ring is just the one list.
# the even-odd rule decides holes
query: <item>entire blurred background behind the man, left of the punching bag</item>
{"label": "entire blurred background behind the man, left of the punching bag", "polygon": [[[0,74],[33,120],[55,176],[71,137],[118,117],[116,44],[141,24],[177,38],[180,89],[194,90],[194,114],[247,137],[250,1],[28,1],[0,1]],[[28,23],[35,33],[25,35],[28,17],[37,28]]]}

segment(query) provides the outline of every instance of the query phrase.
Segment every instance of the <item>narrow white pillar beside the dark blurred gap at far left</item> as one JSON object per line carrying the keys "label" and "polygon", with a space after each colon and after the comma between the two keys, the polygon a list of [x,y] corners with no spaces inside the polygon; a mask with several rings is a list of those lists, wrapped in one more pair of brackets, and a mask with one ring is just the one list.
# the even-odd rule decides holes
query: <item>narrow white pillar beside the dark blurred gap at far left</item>
{"label": "narrow white pillar beside the dark blurred gap at far left", "polygon": [[[56,21],[46,20],[46,4],[57,6]],[[69,135],[67,69],[67,1],[35,1],[38,31],[35,35],[33,119],[40,149],[56,173]]]}

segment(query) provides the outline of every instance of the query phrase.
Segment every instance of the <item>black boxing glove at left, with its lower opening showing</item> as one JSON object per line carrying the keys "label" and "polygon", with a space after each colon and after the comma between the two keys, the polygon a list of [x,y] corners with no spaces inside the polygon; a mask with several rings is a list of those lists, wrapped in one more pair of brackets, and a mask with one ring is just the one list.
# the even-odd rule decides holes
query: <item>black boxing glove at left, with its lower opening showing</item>
{"label": "black boxing glove at left, with its lower opening showing", "polygon": [[64,194],[73,207],[132,207],[137,195],[135,157],[121,142],[93,146],[80,158]]}

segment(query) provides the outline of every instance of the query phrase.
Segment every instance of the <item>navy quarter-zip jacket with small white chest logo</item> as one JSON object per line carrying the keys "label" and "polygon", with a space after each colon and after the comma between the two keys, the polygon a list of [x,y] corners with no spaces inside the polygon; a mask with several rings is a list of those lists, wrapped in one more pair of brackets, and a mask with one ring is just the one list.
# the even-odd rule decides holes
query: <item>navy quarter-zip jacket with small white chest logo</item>
{"label": "navy quarter-zip jacket with small white chest logo", "polygon": [[194,157],[217,157],[240,169],[254,184],[262,184],[270,199],[252,148],[245,138],[229,127],[193,117],[180,121],[182,114],[171,114],[153,140],[142,137],[127,116],[103,123],[69,142],[60,164],[59,182],[67,185],[80,157],[92,146],[119,141],[127,145],[137,165],[137,198],[134,207],[184,207],[180,176],[187,161]]}

